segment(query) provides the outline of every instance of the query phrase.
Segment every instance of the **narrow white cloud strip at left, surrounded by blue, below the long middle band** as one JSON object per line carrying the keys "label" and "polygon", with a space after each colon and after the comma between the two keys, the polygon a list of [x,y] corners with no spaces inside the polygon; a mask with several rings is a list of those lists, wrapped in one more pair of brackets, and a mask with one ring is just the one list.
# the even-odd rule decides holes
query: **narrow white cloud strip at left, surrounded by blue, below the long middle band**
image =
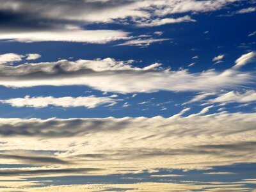
{"label": "narrow white cloud strip at left, surrounded by blue, below the long middle band", "polygon": [[13,107],[32,107],[32,108],[45,108],[48,106],[60,106],[62,108],[74,108],[74,107],[85,107],[85,108],[96,108],[102,104],[114,105],[118,100],[110,97],[95,97],[91,95],[88,97],[29,97],[24,98],[13,98],[0,100],[1,103],[11,104]]}

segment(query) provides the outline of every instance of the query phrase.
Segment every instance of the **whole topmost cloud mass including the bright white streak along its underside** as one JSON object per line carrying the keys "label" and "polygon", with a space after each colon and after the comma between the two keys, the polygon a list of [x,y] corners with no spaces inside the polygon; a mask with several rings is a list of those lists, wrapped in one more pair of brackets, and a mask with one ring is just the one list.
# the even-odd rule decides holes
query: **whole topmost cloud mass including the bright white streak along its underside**
{"label": "whole topmost cloud mass including the bright white streak along its underside", "polygon": [[[239,0],[10,0],[0,5],[0,40],[106,44],[126,39],[127,33],[108,30],[106,26],[104,30],[88,30],[86,27],[109,23],[154,27],[194,22],[189,13],[214,12],[235,1]],[[180,13],[186,13],[186,16],[177,17]]]}

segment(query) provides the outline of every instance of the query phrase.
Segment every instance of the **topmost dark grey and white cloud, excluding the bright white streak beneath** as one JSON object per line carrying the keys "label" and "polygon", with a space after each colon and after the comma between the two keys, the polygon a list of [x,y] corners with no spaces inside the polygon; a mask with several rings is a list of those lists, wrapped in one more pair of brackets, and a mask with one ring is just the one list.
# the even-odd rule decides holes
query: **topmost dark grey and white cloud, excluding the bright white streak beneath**
{"label": "topmost dark grey and white cloud, excluding the bright white streak beneath", "polygon": [[[169,0],[157,1],[157,3],[152,0],[2,0],[0,31],[45,31],[45,29],[64,29],[65,24],[84,26],[95,23],[122,23],[120,20],[125,22],[130,20],[130,23],[138,26],[143,24],[156,26],[161,25],[163,17],[168,18],[166,15],[211,12],[223,8],[228,3],[230,2],[227,0],[216,2]],[[156,19],[158,17],[161,19]],[[193,21],[193,19],[188,20]],[[182,22],[179,18],[177,21]]]}

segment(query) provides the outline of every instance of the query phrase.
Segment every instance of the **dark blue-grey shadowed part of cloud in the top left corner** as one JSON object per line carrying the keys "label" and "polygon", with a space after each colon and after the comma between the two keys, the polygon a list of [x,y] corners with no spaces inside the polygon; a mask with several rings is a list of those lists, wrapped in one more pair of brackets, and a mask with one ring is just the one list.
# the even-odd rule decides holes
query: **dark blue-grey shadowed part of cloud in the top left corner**
{"label": "dark blue-grey shadowed part of cloud in the top left corner", "polygon": [[3,0],[0,5],[0,26],[1,31],[63,29],[65,24],[86,24],[86,18],[65,19],[63,15],[79,17],[84,13],[97,14],[129,3],[131,1]]}

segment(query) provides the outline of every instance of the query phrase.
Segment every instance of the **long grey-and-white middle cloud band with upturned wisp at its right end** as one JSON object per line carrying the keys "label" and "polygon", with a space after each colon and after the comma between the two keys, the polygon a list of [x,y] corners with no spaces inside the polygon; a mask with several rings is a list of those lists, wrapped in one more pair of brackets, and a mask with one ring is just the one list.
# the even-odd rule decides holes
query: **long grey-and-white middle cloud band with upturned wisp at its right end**
{"label": "long grey-and-white middle cloud band with upturned wisp at its right end", "polygon": [[[154,63],[144,68],[133,67],[132,60],[60,60],[0,66],[0,84],[10,87],[90,86],[102,92],[136,93],[165,91],[209,91],[253,82],[252,72],[240,72],[239,67],[252,60],[254,53],[243,55],[233,68],[218,72],[207,70],[189,73],[172,71]],[[218,81],[216,81],[218,79]]]}

